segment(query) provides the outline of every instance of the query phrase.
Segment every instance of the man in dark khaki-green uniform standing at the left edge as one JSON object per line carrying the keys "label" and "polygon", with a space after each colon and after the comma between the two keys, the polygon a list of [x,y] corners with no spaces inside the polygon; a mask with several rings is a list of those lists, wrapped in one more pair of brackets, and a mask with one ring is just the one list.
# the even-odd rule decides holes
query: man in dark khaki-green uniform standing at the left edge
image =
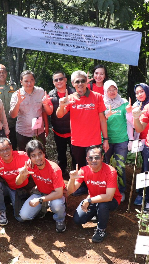
{"label": "man in dark khaki-green uniform standing at the left edge", "polygon": [[3,102],[7,122],[10,130],[9,139],[12,144],[12,149],[16,150],[16,118],[11,118],[8,115],[10,110],[10,100],[12,94],[17,90],[17,85],[11,81],[7,81],[7,70],[6,67],[0,64],[0,99]]}

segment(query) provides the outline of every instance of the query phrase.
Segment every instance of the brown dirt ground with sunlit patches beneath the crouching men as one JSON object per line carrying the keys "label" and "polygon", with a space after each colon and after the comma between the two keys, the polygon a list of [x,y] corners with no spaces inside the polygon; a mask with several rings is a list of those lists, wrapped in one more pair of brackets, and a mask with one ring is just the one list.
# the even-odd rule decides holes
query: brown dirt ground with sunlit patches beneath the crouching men
{"label": "brown dirt ground with sunlit patches beneath the crouching men", "polygon": [[[56,161],[55,145],[48,139],[49,159]],[[68,154],[69,156],[69,154]],[[68,164],[69,166],[69,164]],[[70,170],[70,166],[68,168]],[[140,169],[137,169],[140,173]],[[146,256],[138,255],[134,262],[135,243],[138,235],[138,219],[134,206],[135,184],[130,212],[126,213],[133,177],[133,165],[126,165],[126,200],[110,214],[107,225],[108,236],[102,243],[91,241],[96,224],[88,222],[77,226],[73,223],[73,214],[80,201],[87,195],[68,197],[66,231],[57,233],[53,213],[48,211],[43,219],[34,219],[19,223],[13,216],[12,206],[7,204],[8,224],[5,233],[0,234],[0,263],[10,263],[18,257],[16,263],[145,263]],[[67,184],[69,173],[65,175]],[[0,227],[0,231],[2,227]],[[144,233],[143,233],[144,235]]]}

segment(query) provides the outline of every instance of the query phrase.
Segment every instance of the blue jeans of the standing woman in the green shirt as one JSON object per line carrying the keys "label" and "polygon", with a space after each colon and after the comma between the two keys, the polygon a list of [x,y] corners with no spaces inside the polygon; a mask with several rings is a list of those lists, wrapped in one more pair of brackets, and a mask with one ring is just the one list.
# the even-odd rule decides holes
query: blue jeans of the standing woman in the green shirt
{"label": "blue jeans of the standing woman in the green shirt", "polygon": [[[106,163],[107,164],[110,163],[110,159],[111,159],[111,156],[113,154],[119,154],[119,155],[124,157],[124,160],[122,160],[118,156],[114,155],[116,161],[120,160],[122,162],[125,162],[127,154],[128,154],[128,148],[127,148],[128,142],[129,141],[124,141],[122,143],[113,143],[113,144],[109,143],[110,149],[105,153]],[[121,167],[121,165],[118,162],[117,162],[116,165],[119,166],[122,169],[122,171],[123,171],[123,175],[121,176],[118,173],[118,176],[120,176],[122,178],[123,183],[124,183],[124,186],[122,186],[119,183],[119,191],[120,191],[120,193],[124,193],[124,191],[126,190],[126,173],[125,173],[125,169],[123,167]]]}

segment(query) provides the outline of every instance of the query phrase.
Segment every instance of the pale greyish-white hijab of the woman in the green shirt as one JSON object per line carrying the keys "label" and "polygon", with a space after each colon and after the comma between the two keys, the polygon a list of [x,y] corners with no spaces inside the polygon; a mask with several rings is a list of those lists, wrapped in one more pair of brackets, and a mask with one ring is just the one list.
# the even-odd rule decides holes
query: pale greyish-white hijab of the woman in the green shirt
{"label": "pale greyish-white hijab of the woman in the green shirt", "polygon": [[111,99],[108,97],[108,92],[107,92],[107,89],[111,86],[111,85],[114,85],[117,89],[117,85],[114,81],[112,80],[108,80],[104,83],[103,85],[103,89],[104,89],[104,103],[105,103],[105,106],[107,109],[109,109],[109,105],[111,105],[111,109],[115,109],[119,106],[121,106],[122,104],[124,104],[124,100],[123,98],[120,96],[120,94],[117,93],[116,97]]}

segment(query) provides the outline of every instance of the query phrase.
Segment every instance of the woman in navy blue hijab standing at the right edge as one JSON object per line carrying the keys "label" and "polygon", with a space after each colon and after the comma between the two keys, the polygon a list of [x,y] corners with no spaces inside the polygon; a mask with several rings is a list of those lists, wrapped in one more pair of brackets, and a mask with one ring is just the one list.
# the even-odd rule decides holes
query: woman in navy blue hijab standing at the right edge
{"label": "woman in navy blue hijab standing at the right edge", "polygon": [[[143,110],[144,106],[149,103],[149,86],[144,83],[136,84],[134,87],[134,93],[135,93],[137,101],[133,104],[133,106],[131,106],[131,100],[129,98],[129,105],[126,106],[126,110],[127,110],[126,118],[128,122],[131,124],[132,128],[134,128],[132,110],[136,106],[139,106],[141,102],[142,102],[141,110]],[[141,133],[135,132],[133,139],[145,139],[147,136],[148,130],[149,130],[149,123],[147,124],[146,128]],[[142,160],[143,160],[142,151],[140,151],[140,153],[141,153]],[[142,161],[141,172],[144,172],[144,160]],[[143,188],[138,189],[138,195],[134,201],[134,205],[142,205],[142,193],[143,193]]]}

